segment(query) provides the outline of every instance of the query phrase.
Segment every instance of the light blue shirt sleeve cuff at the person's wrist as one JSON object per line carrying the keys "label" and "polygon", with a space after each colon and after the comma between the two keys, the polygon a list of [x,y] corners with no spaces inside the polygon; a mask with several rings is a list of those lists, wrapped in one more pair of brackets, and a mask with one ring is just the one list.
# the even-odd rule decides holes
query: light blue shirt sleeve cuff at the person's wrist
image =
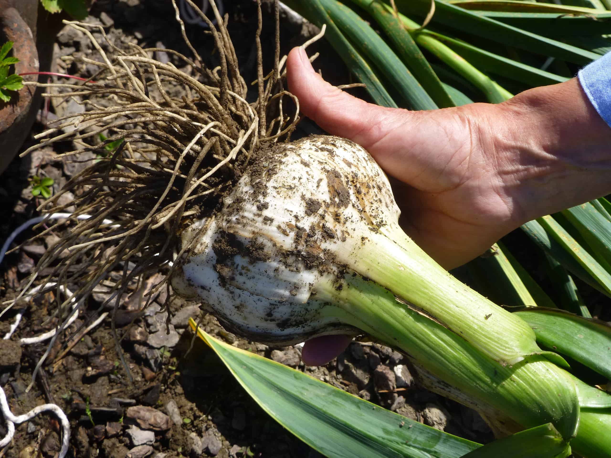
{"label": "light blue shirt sleeve cuff at the person's wrist", "polygon": [[611,127],[611,53],[579,70],[577,76],[588,99]]}

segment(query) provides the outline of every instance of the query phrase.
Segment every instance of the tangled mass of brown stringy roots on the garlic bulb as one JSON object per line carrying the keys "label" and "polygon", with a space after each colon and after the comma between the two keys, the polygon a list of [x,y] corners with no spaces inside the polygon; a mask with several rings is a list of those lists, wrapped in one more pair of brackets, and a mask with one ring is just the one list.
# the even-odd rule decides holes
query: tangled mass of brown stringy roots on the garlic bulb
{"label": "tangled mass of brown stringy roots on the garlic bulb", "polygon": [[[150,291],[144,307],[161,288],[169,292],[168,280],[174,269],[180,268],[181,254],[189,250],[185,246],[177,252],[181,230],[192,220],[219,208],[225,191],[240,178],[254,151],[266,144],[288,141],[299,122],[298,100],[284,90],[286,56],[280,59],[278,2],[274,69],[265,76],[258,1],[255,37],[258,98],[248,103],[247,84],[240,75],[227,31],[228,16],[222,18],[211,0],[215,27],[194,2],[186,1],[210,27],[207,33],[213,35],[219,67],[203,67],[202,58],[186,36],[176,1],[172,0],[183,39],[194,60],[171,49],[141,48],[133,43],[128,43],[131,51],[126,52],[106,38],[103,27],[64,21],[86,34],[101,56],[99,60],[84,56],[64,59],[96,65],[99,71],[84,84],[26,83],[48,87],[49,92],[44,94],[47,97],[73,98],[84,104],[87,111],[58,118],[54,128],[36,136],[40,143],[21,156],[65,140],[81,148],[59,157],[78,158],[79,153],[86,151],[97,153],[97,158],[88,159],[86,169],[40,206],[39,210],[49,214],[72,206],[76,210],[68,220],[56,224],[45,220],[39,225],[46,222],[49,227],[37,238],[67,224],[70,230],[65,230],[64,236],[47,250],[20,296],[13,301],[14,304],[27,296],[27,289],[37,277],[42,278],[43,285],[56,285],[43,288],[38,294],[54,288],[59,292],[60,286],[68,284],[77,285],[75,293],[59,306],[62,324],[58,331],[64,329],[73,313],[71,303],[76,301],[76,308],[80,307],[100,284],[109,288],[108,299],[100,310],[112,308],[113,318],[128,286],[137,285],[164,266],[167,268],[163,269],[163,280]],[[108,43],[108,53],[93,37],[93,30],[99,31]],[[323,32],[304,46],[320,38]],[[186,67],[179,70],[171,63],[152,59],[153,51],[172,53]],[[184,88],[186,96],[170,95],[178,85]],[[289,109],[283,105],[287,98],[293,101]],[[67,126],[74,130],[61,133]],[[109,131],[108,139],[97,142],[104,131]],[[107,150],[106,147],[110,145],[112,149],[119,142],[114,151]],[[75,198],[59,205],[60,197],[67,192]],[[114,320],[112,330],[117,351],[122,354]],[[59,332],[51,346],[57,335]],[[47,354],[48,351],[45,357]]]}

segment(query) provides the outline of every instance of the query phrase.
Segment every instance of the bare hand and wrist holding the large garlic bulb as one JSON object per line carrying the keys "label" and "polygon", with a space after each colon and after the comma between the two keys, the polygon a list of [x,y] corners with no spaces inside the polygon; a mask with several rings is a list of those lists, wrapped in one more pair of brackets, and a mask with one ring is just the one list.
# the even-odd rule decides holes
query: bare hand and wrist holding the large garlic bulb
{"label": "bare hand and wrist holding the large garlic bulb", "polygon": [[[328,84],[301,48],[291,51],[287,69],[302,113],[371,153],[391,176],[401,227],[446,269],[530,219],[611,191],[611,129],[576,79],[498,105],[407,111]],[[314,338],[302,359],[324,364],[350,340]]]}

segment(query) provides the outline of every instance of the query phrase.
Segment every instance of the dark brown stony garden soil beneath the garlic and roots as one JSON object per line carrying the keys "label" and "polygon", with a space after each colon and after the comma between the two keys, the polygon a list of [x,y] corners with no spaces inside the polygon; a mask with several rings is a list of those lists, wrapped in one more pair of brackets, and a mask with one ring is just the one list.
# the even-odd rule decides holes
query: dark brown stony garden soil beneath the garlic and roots
{"label": "dark brown stony garden soil beneath the garlic and roots", "polygon": [[[229,13],[229,31],[241,72],[246,81],[254,81],[256,4],[249,0],[235,1],[225,5],[225,10]],[[265,71],[268,71],[272,68],[274,54],[274,23],[269,4],[264,5],[263,13],[263,54],[266,56]],[[87,21],[102,24],[109,39],[118,46],[131,40],[147,47],[177,49],[189,55],[169,1],[98,0],[93,4]],[[216,67],[218,56],[210,51],[213,47],[210,35],[198,25],[188,25],[187,28],[189,39],[206,60],[205,65]],[[282,54],[316,32],[318,29],[312,24],[301,23],[283,14]],[[333,84],[353,82],[348,70],[340,64],[340,58],[324,40],[315,43],[309,51],[321,52],[316,66],[321,68],[327,80]],[[61,57],[95,52],[87,37],[65,28],[57,36],[54,71],[90,78],[97,68],[66,64]],[[172,56],[161,55],[156,59],[171,61]],[[180,65],[179,62],[176,64]],[[55,81],[59,80],[56,78]],[[252,96],[255,97],[256,86],[253,90]],[[359,89],[352,91],[365,96]],[[38,122],[23,149],[35,143],[33,136],[42,132],[49,121],[85,109],[74,102],[55,100],[57,103],[41,107]],[[305,120],[299,126],[298,136],[320,132],[313,123]],[[0,241],[4,241],[18,225],[38,216],[36,208],[42,201],[40,196],[32,196],[29,181],[32,176],[53,178],[53,191],[57,192],[71,176],[82,170],[82,163],[56,159],[57,154],[70,149],[70,144],[54,144],[54,149],[48,147],[34,151],[26,158],[15,159],[2,175]],[[65,230],[70,230],[70,227]],[[24,242],[35,234],[33,230],[24,231],[16,242]],[[0,298],[3,302],[15,297],[35,262],[60,235],[51,233],[42,239],[26,242],[20,250],[5,257],[0,266]],[[116,278],[120,272],[112,275]],[[12,412],[17,415],[25,413],[46,402],[59,405],[70,420],[69,456],[78,458],[320,456],[263,412],[219,358],[202,341],[192,339],[193,333],[187,323],[189,317],[197,319],[200,316],[197,304],[180,298],[172,300],[168,327],[167,312],[162,312],[160,306],[164,303],[165,293],[159,294],[144,314],[137,313],[142,297],[158,280],[158,277],[152,277],[142,285],[133,285],[130,296],[120,304],[115,317],[119,334],[125,334],[120,352],[115,347],[108,317],[86,334],[78,334],[87,318],[102,312],[98,309],[107,297],[102,286],[101,291],[90,298],[79,318],[57,339],[29,391],[26,388],[48,341],[20,346],[17,340],[39,335],[57,325],[53,316],[57,292],[37,297],[7,313],[0,322],[0,335],[9,331],[16,312],[24,307],[23,320],[12,339],[0,341],[0,386],[4,388]],[[412,377],[409,363],[403,355],[390,348],[355,342],[331,363],[306,367],[301,362],[299,347],[272,348],[241,340],[222,329],[210,315],[202,319],[201,325],[206,332],[236,347],[272,358],[408,418],[470,440],[488,442],[492,439],[488,426],[473,410],[420,388]],[[66,352],[67,343],[74,345],[68,346]],[[0,437],[6,434],[5,428],[0,414]],[[57,455],[59,448],[60,430],[56,418],[39,415],[17,427],[13,441],[0,451],[0,458],[50,458]]]}

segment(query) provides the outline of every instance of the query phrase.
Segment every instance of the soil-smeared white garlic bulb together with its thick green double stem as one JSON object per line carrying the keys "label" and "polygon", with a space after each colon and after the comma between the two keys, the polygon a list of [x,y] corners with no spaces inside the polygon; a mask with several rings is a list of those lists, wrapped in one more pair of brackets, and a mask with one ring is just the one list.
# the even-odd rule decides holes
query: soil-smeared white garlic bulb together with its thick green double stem
{"label": "soil-smeared white garlic bulb together with its thick green double stem", "polygon": [[[190,246],[175,291],[250,340],[365,331],[402,349],[483,410],[522,426],[579,424],[571,376],[530,327],[458,282],[398,225],[386,176],[363,148],[312,136],[261,151]],[[552,362],[553,360],[554,362]]]}

